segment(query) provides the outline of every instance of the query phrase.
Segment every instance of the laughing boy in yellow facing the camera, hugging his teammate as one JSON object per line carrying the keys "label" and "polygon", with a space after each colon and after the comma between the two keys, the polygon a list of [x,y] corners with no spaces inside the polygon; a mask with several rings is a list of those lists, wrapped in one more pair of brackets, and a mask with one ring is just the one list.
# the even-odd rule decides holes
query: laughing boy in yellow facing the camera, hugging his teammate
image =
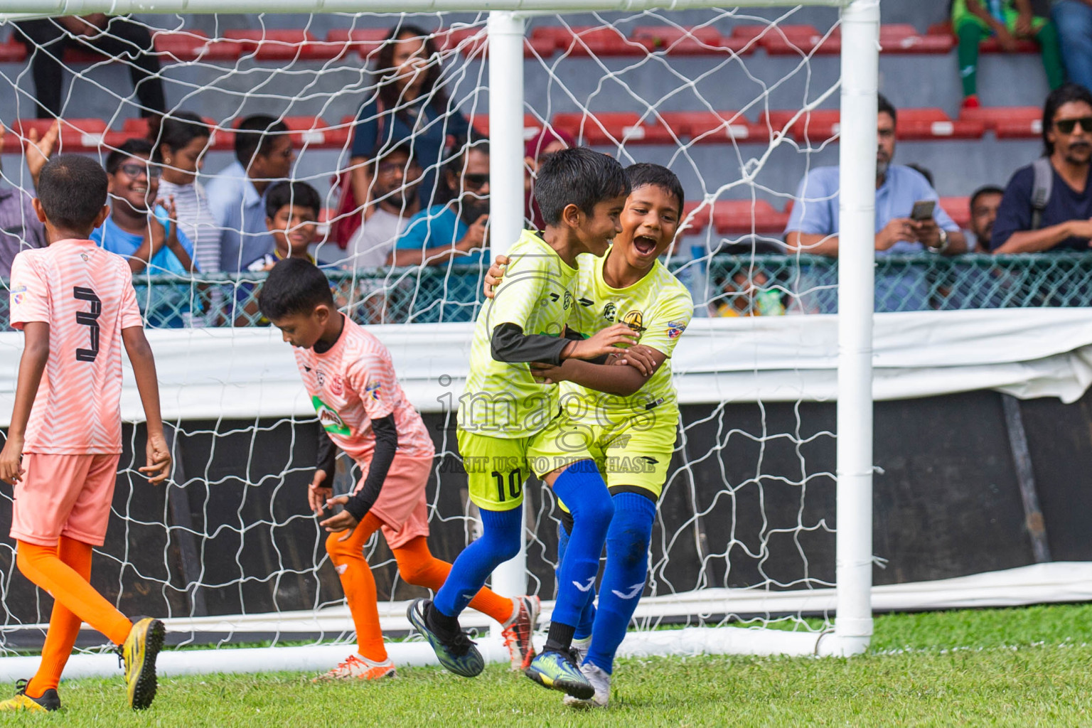
{"label": "laughing boy in yellow facing the camera, hugging his teammate", "polygon": [[[609,362],[627,365],[620,370],[577,361],[538,368],[537,377],[560,383],[562,411],[531,445],[535,458],[593,458],[614,501],[598,610],[590,593],[573,643],[584,653],[581,671],[595,692],[589,701],[566,696],[568,704],[592,706],[607,704],[614,655],[644,590],[656,501],[678,429],[675,386],[670,367],[664,363],[693,314],[690,293],[656,260],[678,229],[682,213],[678,178],[651,164],[632,165],[626,174],[632,191],[621,214],[622,231],[605,258],[581,258],[580,306],[570,323],[590,334],[621,321],[638,333],[639,343]],[[503,275],[503,263],[498,256],[490,268],[487,296]],[[613,383],[605,384],[603,370],[609,369],[616,370],[609,372]],[[565,511],[559,571],[569,558],[570,534],[571,517]]]}

